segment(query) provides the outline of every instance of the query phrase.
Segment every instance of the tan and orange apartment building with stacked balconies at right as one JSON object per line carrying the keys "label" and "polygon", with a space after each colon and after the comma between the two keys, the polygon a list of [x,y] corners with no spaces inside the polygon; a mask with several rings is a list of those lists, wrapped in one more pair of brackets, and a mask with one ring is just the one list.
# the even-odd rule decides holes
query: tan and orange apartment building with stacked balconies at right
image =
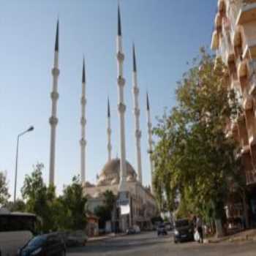
{"label": "tan and orange apartment building with stacked balconies at right", "polygon": [[[211,49],[228,68],[227,89],[236,92],[242,113],[227,124],[240,143],[238,157],[249,190],[249,217],[256,222],[256,0],[219,0]],[[242,206],[241,206],[242,207]]]}

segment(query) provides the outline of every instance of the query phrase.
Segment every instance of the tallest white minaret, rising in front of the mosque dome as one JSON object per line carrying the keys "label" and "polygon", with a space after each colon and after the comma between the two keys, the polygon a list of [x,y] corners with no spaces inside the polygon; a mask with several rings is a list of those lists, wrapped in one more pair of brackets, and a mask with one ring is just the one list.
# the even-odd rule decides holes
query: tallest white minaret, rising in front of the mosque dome
{"label": "tallest white minaret, rising in front of the mosque dome", "polygon": [[118,69],[118,112],[120,118],[120,153],[121,153],[121,167],[120,167],[120,182],[119,182],[119,192],[127,191],[127,164],[126,164],[126,148],[125,148],[125,120],[124,113],[126,105],[124,104],[124,84],[125,80],[123,78],[123,63],[124,63],[124,53],[122,48],[122,36],[121,36],[121,18],[120,18],[120,8],[118,5],[118,34],[116,38],[116,59],[117,59],[117,69]]}

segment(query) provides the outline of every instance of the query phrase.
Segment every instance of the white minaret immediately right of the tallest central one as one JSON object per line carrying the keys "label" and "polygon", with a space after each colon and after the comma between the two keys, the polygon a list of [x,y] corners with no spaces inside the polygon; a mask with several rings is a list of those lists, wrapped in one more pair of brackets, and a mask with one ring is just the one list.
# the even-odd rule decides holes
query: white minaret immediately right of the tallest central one
{"label": "white minaret immediately right of the tallest central one", "polygon": [[137,81],[137,67],[136,67],[136,56],[135,56],[135,45],[132,45],[132,58],[133,58],[133,71],[132,71],[132,91],[133,91],[133,105],[135,114],[135,140],[136,140],[136,154],[137,154],[137,170],[138,170],[138,180],[142,184],[142,170],[141,170],[141,151],[140,151],[140,106],[139,106],[139,93]]}

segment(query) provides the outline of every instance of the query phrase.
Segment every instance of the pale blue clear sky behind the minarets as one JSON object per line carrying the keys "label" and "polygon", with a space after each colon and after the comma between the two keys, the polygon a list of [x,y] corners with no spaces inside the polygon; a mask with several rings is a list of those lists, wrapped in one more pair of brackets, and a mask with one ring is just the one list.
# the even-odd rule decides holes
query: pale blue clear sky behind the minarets
{"label": "pale blue clear sky behind the minarets", "polygon": [[[0,170],[7,170],[13,195],[15,143],[20,140],[18,191],[32,165],[45,164],[48,183],[50,91],[56,19],[60,19],[60,77],[56,139],[56,186],[69,184],[80,170],[80,91],[86,56],[86,179],[94,182],[107,161],[106,113],[110,97],[113,157],[119,151],[116,86],[116,0],[1,0],[0,8]],[[135,42],[140,87],[143,181],[149,184],[146,90],[153,124],[175,104],[176,81],[209,45],[217,0],[121,1],[127,159],[136,167],[132,113],[132,42]]]}

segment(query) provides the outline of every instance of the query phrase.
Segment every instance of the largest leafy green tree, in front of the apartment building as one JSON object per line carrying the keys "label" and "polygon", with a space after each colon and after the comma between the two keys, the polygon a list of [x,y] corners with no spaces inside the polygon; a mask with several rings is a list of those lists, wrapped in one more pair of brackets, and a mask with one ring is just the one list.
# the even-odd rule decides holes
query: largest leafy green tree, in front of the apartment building
{"label": "largest leafy green tree, in front of the apartment building", "polygon": [[237,178],[238,145],[225,134],[228,120],[235,120],[241,110],[235,92],[227,89],[227,69],[204,49],[201,53],[178,83],[177,106],[165,112],[154,129],[159,138],[153,154],[154,186],[157,199],[162,202],[165,196],[170,208],[178,192],[186,206],[183,214],[219,222],[230,185],[244,187]]}

